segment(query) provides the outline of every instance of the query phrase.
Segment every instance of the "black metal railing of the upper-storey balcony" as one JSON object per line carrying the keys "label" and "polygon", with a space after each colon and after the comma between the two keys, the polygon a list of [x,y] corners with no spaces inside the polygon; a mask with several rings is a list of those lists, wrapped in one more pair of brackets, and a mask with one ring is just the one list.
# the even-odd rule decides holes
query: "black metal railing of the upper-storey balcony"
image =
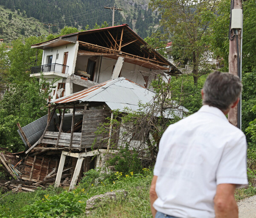
{"label": "black metal railing of the upper-storey balcony", "polygon": [[34,66],[31,68],[31,73],[41,73],[41,72],[58,72],[65,73],[68,72],[68,66],[58,63],[45,64],[41,66]]}

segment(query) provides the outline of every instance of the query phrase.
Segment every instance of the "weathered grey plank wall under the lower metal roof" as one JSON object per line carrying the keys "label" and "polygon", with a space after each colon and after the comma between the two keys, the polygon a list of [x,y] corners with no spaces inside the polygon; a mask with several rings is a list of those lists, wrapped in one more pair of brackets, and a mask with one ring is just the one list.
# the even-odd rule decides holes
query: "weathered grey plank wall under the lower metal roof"
{"label": "weathered grey plank wall under the lower metal roof", "polygon": [[111,112],[106,111],[105,109],[92,109],[85,110],[83,113],[84,118],[81,135],[81,148],[90,148],[95,138],[97,138],[97,143],[94,146],[95,148],[99,146],[107,147],[107,142],[100,144],[98,140],[104,138],[105,136],[96,135],[95,132],[101,123],[108,122],[106,118],[111,116]]}

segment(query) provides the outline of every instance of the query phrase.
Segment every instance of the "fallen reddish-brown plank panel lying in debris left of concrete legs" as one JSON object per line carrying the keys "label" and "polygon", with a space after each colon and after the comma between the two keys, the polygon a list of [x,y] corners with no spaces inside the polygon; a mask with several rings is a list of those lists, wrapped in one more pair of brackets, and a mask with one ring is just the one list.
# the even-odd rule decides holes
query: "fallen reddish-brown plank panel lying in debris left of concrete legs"
{"label": "fallen reddish-brown plank panel lying in debris left of concrete legs", "polygon": [[[53,158],[47,157],[28,157],[24,161],[24,169],[20,177],[26,181],[40,182],[52,171],[53,168],[58,166],[58,161]],[[57,172],[58,168],[56,168]]]}

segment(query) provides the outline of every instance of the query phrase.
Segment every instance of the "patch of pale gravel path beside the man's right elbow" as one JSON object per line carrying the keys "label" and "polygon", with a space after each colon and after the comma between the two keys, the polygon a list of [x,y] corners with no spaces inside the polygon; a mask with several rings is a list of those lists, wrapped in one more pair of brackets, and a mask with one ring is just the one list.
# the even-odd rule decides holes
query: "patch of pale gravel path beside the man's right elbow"
{"label": "patch of pale gravel path beside the man's right elbow", "polygon": [[256,195],[239,201],[237,205],[239,218],[256,218]]}

